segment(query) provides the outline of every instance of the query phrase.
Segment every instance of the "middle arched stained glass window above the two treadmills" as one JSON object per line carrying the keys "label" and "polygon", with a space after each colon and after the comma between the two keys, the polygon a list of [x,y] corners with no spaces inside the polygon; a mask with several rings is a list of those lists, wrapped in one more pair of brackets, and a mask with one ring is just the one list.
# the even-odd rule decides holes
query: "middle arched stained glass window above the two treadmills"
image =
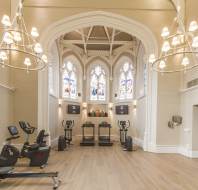
{"label": "middle arched stained glass window above the two treadmills", "polygon": [[104,101],[106,98],[106,75],[104,69],[97,65],[91,70],[90,99]]}

